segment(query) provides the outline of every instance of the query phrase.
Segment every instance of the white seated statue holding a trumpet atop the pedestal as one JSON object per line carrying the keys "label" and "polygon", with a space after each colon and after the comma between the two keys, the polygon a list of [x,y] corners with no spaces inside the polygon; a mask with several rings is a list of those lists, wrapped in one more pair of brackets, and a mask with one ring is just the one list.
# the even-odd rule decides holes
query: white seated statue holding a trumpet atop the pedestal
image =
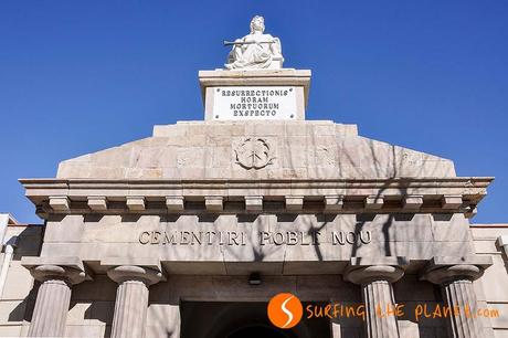
{"label": "white seated statue holding a trumpet atop the pedestal", "polygon": [[236,39],[227,55],[226,70],[235,68],[282,68],[281,40],[271,34],[264,34],[265,20],[254,17],[251,21],[251,33]]}

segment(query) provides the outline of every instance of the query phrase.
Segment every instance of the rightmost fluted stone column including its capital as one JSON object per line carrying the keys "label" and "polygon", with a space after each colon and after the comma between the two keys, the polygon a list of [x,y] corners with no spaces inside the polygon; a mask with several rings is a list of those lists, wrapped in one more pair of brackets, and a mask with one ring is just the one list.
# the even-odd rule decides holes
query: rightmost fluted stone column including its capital
{"label": "rightmost fluted stone column including its capital", "polygon": [[473,281],[479,278],[491,258],[434,257],[422,274],[422,279],[441,285],[445,306],[453,315],[447,316],[447,330],[453,338],[483,337],[481,321],[476,318],[477,300]]}

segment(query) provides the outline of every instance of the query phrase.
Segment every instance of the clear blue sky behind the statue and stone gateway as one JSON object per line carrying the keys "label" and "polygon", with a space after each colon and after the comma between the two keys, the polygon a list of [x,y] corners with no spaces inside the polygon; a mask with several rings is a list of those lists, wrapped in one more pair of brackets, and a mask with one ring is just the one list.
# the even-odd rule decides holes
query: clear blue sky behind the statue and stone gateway
{"label": "clear blue sky behind the statue and stone gateway", "polygon": [[198,70],[254,14],[314,72],[308,119],[495,176],[479,222],[508,222],[508,1],[1,1],[0,211],[40,222],[18,178],[202,119]]}

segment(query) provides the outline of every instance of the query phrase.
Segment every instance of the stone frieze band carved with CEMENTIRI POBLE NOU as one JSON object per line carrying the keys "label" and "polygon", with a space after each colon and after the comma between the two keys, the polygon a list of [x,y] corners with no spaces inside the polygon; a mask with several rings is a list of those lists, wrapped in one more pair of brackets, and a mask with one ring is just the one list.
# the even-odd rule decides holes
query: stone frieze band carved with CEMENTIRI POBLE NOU
{"label": "stone frieze band carved with CEMENTIRI POBLE NOU", "polygon": [[[276,270],[284,274],[329,274],[340,272],[351,256],[425,261],[474,254],[467,221],[462,215],[446,220],[428,214],[66,215],[61,223],[49,222],[42,256],[96,262],[128,252],[158,257],[174,273],[241,274],[254,268],[239,270],[237,261],[284,263]],[[451,235],[443,236],[436,224],[443,233],[451,228]],[[461,233],[466,236],[461,239]]]}

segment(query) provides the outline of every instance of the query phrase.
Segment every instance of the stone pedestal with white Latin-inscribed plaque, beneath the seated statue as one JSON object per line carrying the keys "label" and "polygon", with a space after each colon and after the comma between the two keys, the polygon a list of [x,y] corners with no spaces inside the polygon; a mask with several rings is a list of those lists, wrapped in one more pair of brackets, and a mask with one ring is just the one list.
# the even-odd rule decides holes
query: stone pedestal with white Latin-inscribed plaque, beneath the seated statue
{"label": "stone pedestal with white Latin-inscribed plaque, beneath the seated statue", "polygon": [[205,120],[305,119],[308,70],[200,71]]}

